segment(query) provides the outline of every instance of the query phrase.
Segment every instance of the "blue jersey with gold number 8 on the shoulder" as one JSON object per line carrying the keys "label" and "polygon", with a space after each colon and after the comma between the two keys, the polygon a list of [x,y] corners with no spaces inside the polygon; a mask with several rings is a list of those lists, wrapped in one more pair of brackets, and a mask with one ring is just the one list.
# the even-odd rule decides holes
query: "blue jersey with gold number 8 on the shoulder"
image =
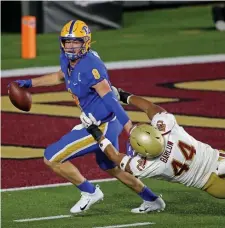
{"label": "blue jersey with gold number 8 on the shoulder", "polygon": [[102,98],[92,88],[104,79],[109,80],[106,67],[96,53],[89,51],[74,69],[68,69],[69,62],[64,54],[60,55],[60,63],[65,75],[66,88],[74,95],[75,100],[77,98],[76,101],[82,110],[86,114],[92,113],[97,120],[112,116]]}

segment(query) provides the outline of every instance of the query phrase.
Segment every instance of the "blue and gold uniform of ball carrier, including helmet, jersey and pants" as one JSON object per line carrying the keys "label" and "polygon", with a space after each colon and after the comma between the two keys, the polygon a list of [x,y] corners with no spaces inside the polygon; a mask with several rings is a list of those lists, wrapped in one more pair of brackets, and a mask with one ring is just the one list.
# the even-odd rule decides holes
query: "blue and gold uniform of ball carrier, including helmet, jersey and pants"
{"label": "blue and gold uniform of ball carrier, including helmet, jersey and pants", "polygon": [[[81,38],[84,44],[78,54],[65,52],[63,46],[65,40],[81,40]],[[66,88],[73,95],[77,105],[87,115],[92,113],[97,120],[101,120],[100,129],[118,149],[118,136],[129,119],[116,98],[110,95],[112,92],[102,98],[93,88],[102,80],[107,80],[109,85],[110,82],[104,63],[96,52],[90,50],[90,40],[91,34],[84,22],[70,21],[64,26],[60,39],[61,70],[64,73]],[[70,66],[70,61],[76,59],[79,60],[73,68]],[[112,105],[109,104],[110,101],[113,103]],[[117,112],[111,106],[117,107]],[[122,113],[123,117],[117,118],[117,113]],[[121,115],[119,116],[121,117]],[[115,164],[101,152],[94,138],[85,128],[79,128],[79,126],[64,135],[58,142],[48,146],[44,156],[52,162],[64,162],[92,152],[96,153],[97,163],[102,169],[115,167]]]}

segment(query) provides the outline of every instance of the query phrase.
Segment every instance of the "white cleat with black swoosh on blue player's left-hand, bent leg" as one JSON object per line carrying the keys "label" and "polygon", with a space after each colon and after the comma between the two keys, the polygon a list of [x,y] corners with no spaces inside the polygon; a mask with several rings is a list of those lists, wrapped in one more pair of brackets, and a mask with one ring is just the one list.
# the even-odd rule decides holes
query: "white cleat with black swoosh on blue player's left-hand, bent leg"
{"label": "white cleat with black swoosh on blue player's left-hand, bent leg", "polygon": [[96,185],[94,193],[81,192],[80,200],[70,209],[70,213],[77,214],[88,210],[91,205],[103,200],[104,194],[100,190],[99,186]]}

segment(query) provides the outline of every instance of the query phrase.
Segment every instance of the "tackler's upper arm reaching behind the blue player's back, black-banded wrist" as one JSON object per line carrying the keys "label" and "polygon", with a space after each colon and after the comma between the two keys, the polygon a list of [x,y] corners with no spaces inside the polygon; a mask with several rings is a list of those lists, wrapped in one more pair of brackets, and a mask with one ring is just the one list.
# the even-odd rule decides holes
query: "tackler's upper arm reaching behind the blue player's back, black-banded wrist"
{"label": "tackler's upper arm reaching behind the blue player's back, black-banded wrist", "polygon": [[151,120],[156,113],[165,112],[166,110],[159,105],[152,103],[142,97],[136,96],[122,89],[113,87],[117,98],[125,104],[131,104],[145,112]]}

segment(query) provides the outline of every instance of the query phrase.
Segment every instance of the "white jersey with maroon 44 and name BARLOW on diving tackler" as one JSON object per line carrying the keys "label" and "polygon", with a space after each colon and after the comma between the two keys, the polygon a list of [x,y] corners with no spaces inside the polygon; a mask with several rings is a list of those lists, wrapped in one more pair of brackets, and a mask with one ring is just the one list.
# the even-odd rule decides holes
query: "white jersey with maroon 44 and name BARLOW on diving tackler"
{"label": "white jersey with maroon 44 and name BARLOW on diving tackler", "polygon": [[216,173],[219,151],[189,135],[177,124],[172,114],[158,113],[151,124],[158,128],[165,139],[164,152],[152,160],[139,155],[132,158],[130,169],[133,175],[202,188],[211,173]]}

